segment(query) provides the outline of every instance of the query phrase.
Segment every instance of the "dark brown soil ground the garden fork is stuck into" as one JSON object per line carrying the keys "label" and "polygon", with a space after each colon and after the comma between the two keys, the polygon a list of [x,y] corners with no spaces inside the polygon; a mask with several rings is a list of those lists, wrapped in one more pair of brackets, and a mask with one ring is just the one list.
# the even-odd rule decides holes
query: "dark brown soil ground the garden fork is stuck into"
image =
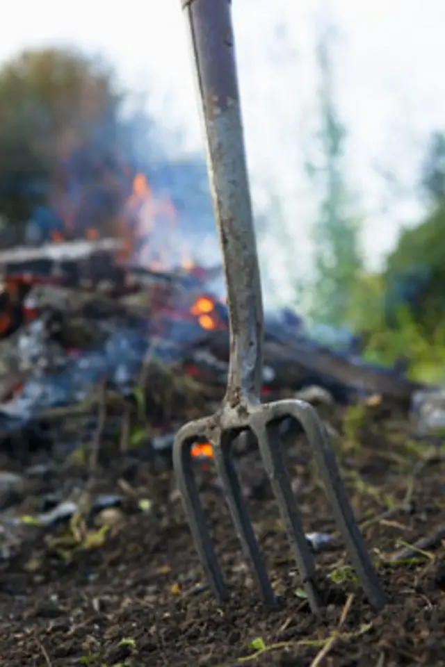
{"label": "dark brown soil ground the garden fork is stuck into", "polygon": [[[364,600],[341,546],[317,554],[320,574],[331,575],[321,584],[327,607],[319,618],[309,612],[256,452],[238,463],[282,604],[273,612],[261,604],[218,484],[211,470],[199,470],[232,591],[218,604],[204,586],[171,472],[153,471],[133,454],[100,471],[99,488],[129,499],[96,518],[109,526],[105,536],[82,525],[51,533],[29,527],[17,555],[1,563],[0,664],[445,665],[445,543],[432,538],[445,525],[445,449],[413,440],[405,420],[375,409],[337,409],[330,423],[341,433],[343,476],[389,596],[380,614]],[[301,438],[289,447],[305,527],[332,533],[308,454]],[[419,538],[428,538],[424,549],[389,564]]]}

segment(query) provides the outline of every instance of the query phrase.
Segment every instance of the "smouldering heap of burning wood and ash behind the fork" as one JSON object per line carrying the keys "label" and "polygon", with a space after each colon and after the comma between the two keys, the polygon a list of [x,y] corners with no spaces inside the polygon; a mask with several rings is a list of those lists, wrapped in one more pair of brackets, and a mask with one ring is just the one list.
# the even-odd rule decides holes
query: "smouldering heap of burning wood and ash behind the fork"
{"label": "smouldering heap of burning wood and ash behind the fork", "polygon": [[[228,331],[225,302],[211,290],[219,267],[161,272],[129,263],[123,249],[114,238],[0,254],[3,446],[17,435],[34,446],[51,434],[60,441],[67,415],[65,439],[75,446],[94,428],[102,387],[116,418],[125,413],[131,422],[142,410],[138,438],[143,428],[168,450],[184,419],[220,399]],[[315,400],[378,396],[406,409],[421,389],[398,370],[364,363],[353,341],[337,351],[316,343],[289,312],[266,318],[265,338],[266,401],[315,386]],[[129,440],[131,423],[127,431]]]}

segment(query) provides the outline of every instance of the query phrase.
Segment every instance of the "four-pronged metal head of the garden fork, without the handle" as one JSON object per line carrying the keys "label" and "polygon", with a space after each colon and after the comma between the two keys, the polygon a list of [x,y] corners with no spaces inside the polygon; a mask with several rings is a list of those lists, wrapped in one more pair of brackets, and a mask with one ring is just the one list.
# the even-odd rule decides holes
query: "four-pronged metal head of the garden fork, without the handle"
{"label": "four-pronged metal head of the garden fork, without the handle", "polygon": [[307,599],[312,611],[318,611],[321,607],[321,595],[316,586],[314,557],[302,527],[300,512],[284,460],[282,443],[278,436],[280,422],[289,418],[296,420],[305,431],[350,560],[369,603],[374,609],[381,609],[385,605],[385,593],[378,582],[362,534],[355,522],[325,427],[312,406],[297,400],[284,400],[265,405],[241,402],[237,406],[231,406],[225,402],[222,409],[213,416],[189,422],[177,434],[173,463],[184,509],[209,585],[218,600],[228,598],[227,585],[207,529],[193,476],[193,459],[190,450],[193,443],[202,437],[207,438],[213,445],[216,472],[222,481],[236,532],[240,538],[243,552],[251,563],[262,598],[269,607],[275,607],[277,604],[264,559],[254,536],[232,456],[234,440],[243,431],[251,431],[257,439],[261,459],[286,526]]}

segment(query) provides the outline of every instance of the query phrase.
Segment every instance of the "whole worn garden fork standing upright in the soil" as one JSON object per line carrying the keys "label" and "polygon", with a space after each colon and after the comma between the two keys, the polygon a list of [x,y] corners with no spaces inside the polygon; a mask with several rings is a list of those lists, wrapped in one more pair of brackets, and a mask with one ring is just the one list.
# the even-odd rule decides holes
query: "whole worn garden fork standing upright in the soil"
{"label": "whole worn garden fork standing upright in the soil", "polygon": [[207,165],[213,206],[223,252],[229,309],[230,361],[227,390],[220,409],[211,417],[190,422],[175,439],[175,473],[197,552],[218,600],[228,598],[193,477],[191,445],[205,437],[213,446],[216,470],[227,504],[252,563],[264,602],[277,598],[268,578],[232,458],[234,439],[251,431],[289,534],[298,570],[313,611],[321,607],[315,581],[315,562],[293,497],[277,426],[284,419],[300,422],[314,451],[327,498],[337,519],[353,566],[366,597],[375,609],[385,594],[355,522],[327,432],[309,404],[282,400],[261,405],[263,305],[252,207],[245,160],[230,0],[181,0],[191,36],[197,88],[204,120]]}

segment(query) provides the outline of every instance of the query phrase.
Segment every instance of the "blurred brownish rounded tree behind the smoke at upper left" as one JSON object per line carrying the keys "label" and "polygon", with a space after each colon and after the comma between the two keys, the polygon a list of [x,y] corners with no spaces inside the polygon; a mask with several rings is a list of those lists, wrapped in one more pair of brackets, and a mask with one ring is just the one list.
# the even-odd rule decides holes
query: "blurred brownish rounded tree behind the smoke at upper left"
{"label": "blurred brownish rounded tree behind the smoke at upper left", "polygon": [[126,174],[123,101],[113,71],[72,49],[24,51],[6,63],[0,213],[16,224],[49,204],[71,225],[91,208],[108,217]]}

